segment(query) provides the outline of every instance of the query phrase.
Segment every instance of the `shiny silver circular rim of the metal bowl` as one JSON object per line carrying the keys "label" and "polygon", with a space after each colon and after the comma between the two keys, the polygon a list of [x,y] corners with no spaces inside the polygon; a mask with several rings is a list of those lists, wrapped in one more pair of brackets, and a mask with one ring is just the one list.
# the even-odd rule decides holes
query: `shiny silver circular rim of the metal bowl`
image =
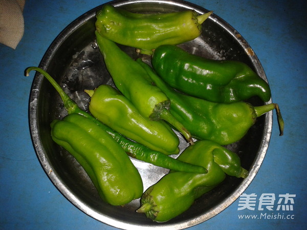
{"label": "shiny silver circular rim of the metal bowl", "polygon": [[[135,3],[163,3],[163,4],[174,4],[186,9],[193,9],[198,13],[206,13],[208,12],[205,8],[200,7],[198,5],[186,2],[186,1],[160,1],[160,0],[138,0],[138,1],[112,1],[107,2],[105,4],[112,4],[116,7],[121,7],[125,5],[135,4]],[[39,67],[43,70],[46,70],[48,67],[50,61],[52,60],[54,54],[59,49],[62,42],[67,39],[76,29],[78,29],[80,26],[82,26],[87,20],[90,20],[93,18],[96,14],[96,11],[100,9],[103,5],[102,4],[98,7],[93,8],[92,10],[84,13],[83,15],[79,16],[77,19],[75,19],[71,24],[69,24],[66,28],[64,28],[60,34],[54,39],[54,41],[51,43],[50,47],[47,49],[45,55],[43,55],[43,58],[39,64]],[[256,56],[256,54],[251,49],[248,42],[239,35],[239,33],[232,28],[226,21],[224,21],[222,18],[218,17],[215,14],[212,14],[209,18],[209,20],[214,20],[214,23],[218,24],[218,26],[225,29],[227,33],[229,33],[239,44],[241,47],[245,49],[247,54],[249,55],[249,58],[251,62],[253,63],[253,67],[255,67],[255,71],[261,76],[261,78],[267,80],[266,74]],[[131,224],[128,222],[122,222],[121,220],[114,219],[111,217],[107,217],[103,214],[97,213],[95,210],[91,209],[88,205],[83,203],[78,197],[73,193],[73,191],[70,190],[70,188],[65,185],[57,172],[52,171],[52,165],[49,162],[49,159],[47,155],[45,154],[45,151],[43,147],[40,145],[41,139],[38,133],[38,121],[36,119],[37,117],[37,98],[39,95],[39,87],[41,85],[43,78],[39,73],[36,73],[33,79],[33,83],[31,86],[30,91],[30,98],[29,98],[29,126],[30,126],[30,134],[32,143],[34,146],[34,150],[36,152],[36,155],[39,159],[39,162],[49,177],[49,179],[52,181],[54,186],[59,190],[62,195],[67,198],[72,204],[74,204],[78,209],[80,209],[85,214],[89,215],[90,217],[105,223],[107,225],[111,225],[118,228],[123,229],[141,229],[144,227],[154,227],[159,229],[183,229],[188,228],[197,224],[200,224],[202,222],[205,222],[206,220],[209,220],[210,218],[216,216],[217,214],[224,211],[228,206],[230,206],[250,185],[254,177],[256,176],[264,158],[266,155],[266,152],[269,147],[271,132],[272,132],[272,123],[273,123],[273,112],[270,111],[266,114],[265,118],[265,124],[264,127],[264,133],[262,134],[262,141],[261,145],[258,149],[258,154],[256,155],[256,158],[254,159],[254,162],[252,164],[252,167],[249,171],[249,176],[244,179],[240,185],[235,189],[228,197],[226,197],[223,202],[219,203],[218,205],[214,206],[211,210],[207,211],[205,214],[201,214],[198,216],[195,216],[194,218],[191,218],[189,221],[183,221],[178,222],[176,224],[168,224],[167,222],[161,223],[161,225],[136,225]],[[271,103],[272,100],[270,100],[267,103]],[[267,104],[266,103],[266,104]],[[51,173],[52,172],[52,173]]]}

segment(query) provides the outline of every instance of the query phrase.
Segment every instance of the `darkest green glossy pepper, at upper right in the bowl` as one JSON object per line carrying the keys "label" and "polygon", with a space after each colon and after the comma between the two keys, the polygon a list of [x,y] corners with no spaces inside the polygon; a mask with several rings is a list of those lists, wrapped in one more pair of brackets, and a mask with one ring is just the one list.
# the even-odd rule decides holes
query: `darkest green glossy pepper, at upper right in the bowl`
{"label": "darkest green glossy pepper, at upper right in the bowl", "polygon": [[194,97],[223,103],[253,96],[265,102],[271,98],[268,83],[243,62],[210,60],[176,45],[162,45],[153,53],[151,63],[170,86]]}

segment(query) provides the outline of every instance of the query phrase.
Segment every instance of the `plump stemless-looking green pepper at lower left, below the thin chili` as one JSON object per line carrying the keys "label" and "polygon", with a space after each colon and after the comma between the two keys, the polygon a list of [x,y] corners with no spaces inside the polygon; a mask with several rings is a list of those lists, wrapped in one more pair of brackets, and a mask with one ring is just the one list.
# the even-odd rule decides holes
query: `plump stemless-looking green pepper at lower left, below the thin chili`
{"label": "plump stemless-looking green pepper at lower left, below the thin chili", "polygon": [[140,198],[143,182],[120,145],[91,120],[69,114],[51,123],[54,142],[69,151],[93,181],[100,197],[112,205]]}

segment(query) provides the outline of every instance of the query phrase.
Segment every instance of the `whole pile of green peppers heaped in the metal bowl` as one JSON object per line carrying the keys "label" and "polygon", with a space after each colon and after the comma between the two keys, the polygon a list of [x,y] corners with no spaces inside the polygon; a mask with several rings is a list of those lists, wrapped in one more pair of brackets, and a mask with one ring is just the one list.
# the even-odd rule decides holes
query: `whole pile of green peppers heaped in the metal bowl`
{"label": "whole pile of green peppers heaped in the metal bowl", "polygon": [[[96,14],[95,35],[116,88],[84,89],[91,114],[48,73],[27,69],[27,74],[41,73],[58,91],[69,115],[51,123],[52,139],[78,160],[106,202],[123,205],[140,198],[138,213],[168,221],[226,175],[248,176],[238,155],[225,146],[242,139],[258,117],[276,109],[283,134],[276,103],[253,106],[244,101],[271,99],[268,83],[248,65],[204,59],[177,46],[198,37],[211,13],[138,14],[104,5]],[[133,60],[117,43],[150,55],[151,62]],[[180,151],[174,130],[190,144],[177,159],[168,156]],[[170,172],[143,193],[128,155]]]}

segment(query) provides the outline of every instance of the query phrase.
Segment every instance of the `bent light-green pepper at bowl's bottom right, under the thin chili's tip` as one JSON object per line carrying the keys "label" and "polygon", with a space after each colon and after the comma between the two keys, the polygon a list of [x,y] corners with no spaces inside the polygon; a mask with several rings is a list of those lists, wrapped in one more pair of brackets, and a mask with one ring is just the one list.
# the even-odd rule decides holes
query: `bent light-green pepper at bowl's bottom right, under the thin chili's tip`
{"label": "bent light-green pepper at bowl's bottom right, under the thin chili's tip", "polygon": [[236,153],[211,141],[195,142],[178,158],[206,167],[208,173],[166,174],[144,192],[138,213],[145,213],[153,221],[168,221],[188,210],[195,199],[220,184],[225,174],[242,178],[248,176],[248,171],[240,166]]}

